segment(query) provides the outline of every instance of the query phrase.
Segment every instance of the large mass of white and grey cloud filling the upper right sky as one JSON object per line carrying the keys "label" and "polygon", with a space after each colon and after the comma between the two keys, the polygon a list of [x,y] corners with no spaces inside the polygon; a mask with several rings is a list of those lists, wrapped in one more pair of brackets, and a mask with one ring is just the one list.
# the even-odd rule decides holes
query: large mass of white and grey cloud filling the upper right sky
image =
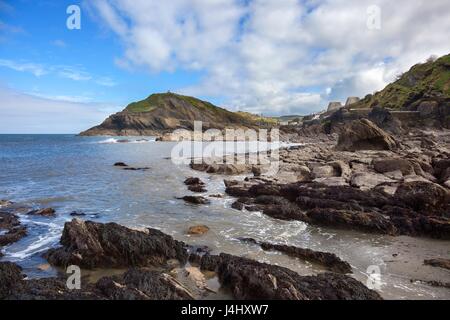
{"label": "large mass of white and grey cloud filling the upper right sky", "polygon": [[[95,0],[125,45],[118,64],[195,69],[183,92],[264,113],[311,112],[379,90],[431,54],[450,52],[447,0]],[[367,27],[379,6],[381,29]]]}

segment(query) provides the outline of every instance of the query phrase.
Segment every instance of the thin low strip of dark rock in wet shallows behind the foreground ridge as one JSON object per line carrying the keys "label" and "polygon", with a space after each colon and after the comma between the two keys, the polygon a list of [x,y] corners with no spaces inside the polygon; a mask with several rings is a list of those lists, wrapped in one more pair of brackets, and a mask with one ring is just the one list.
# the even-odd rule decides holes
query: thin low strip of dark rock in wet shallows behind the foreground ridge
{"label": "thin low strip of dark rock in wet shallows behind the foreground ridge", "polygon": [[330,271],[338,273],[352,273],[352,267],[348,262],[341,260],[334,253],[314,251],[311,249],[304,249],[295,246],[288,246],[284,244],[273,244],[270,242],[257,242],[252,238],[241,239],[244,242],[251,244],[258,244],[263,250],[276,250],[286,253],[287,255],[299,258],[305,261],[320,264]]}

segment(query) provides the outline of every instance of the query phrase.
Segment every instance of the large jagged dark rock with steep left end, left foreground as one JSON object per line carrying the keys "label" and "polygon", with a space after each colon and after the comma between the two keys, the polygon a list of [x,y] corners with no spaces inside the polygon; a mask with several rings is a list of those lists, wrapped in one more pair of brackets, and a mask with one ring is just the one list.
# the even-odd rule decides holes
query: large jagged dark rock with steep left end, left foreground
{"label": "large jagged dark rock with steep left end, left foreground", "polygon": [[136,231],[116,223],[96,223],[73,219],[64,225],[60,243],[45,258],[56,266],[120,268],[164,265],[169,259],[185,262],[185,244],[156,229]]}

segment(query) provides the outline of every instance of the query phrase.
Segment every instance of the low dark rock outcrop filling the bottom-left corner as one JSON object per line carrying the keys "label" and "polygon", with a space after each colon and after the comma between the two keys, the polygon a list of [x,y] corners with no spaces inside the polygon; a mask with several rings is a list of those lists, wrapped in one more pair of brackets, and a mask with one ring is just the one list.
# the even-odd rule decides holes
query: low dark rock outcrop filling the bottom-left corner
{"label": "low dark rock outcrop filling the bottom-left corner", "polygon": [[0,300],[185,300],[194,297],[168,274],[145,268],[123,275],[103,277],[96,283],[81,282],[70,290],[67,280],[42,278],[24,280],[21,268],[0,262]]}

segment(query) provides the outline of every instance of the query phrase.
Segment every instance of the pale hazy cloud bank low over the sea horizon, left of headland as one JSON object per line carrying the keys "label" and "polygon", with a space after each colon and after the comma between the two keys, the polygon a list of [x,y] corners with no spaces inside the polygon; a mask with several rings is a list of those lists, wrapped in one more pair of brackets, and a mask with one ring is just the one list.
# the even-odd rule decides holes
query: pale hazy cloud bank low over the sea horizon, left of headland
{"label": "pale hazy cloud bank low over the sea horizon, left of headland", "polygon": [[0,133],[78,133],[105,119],[117,106],[38,97],[0,86]]}

